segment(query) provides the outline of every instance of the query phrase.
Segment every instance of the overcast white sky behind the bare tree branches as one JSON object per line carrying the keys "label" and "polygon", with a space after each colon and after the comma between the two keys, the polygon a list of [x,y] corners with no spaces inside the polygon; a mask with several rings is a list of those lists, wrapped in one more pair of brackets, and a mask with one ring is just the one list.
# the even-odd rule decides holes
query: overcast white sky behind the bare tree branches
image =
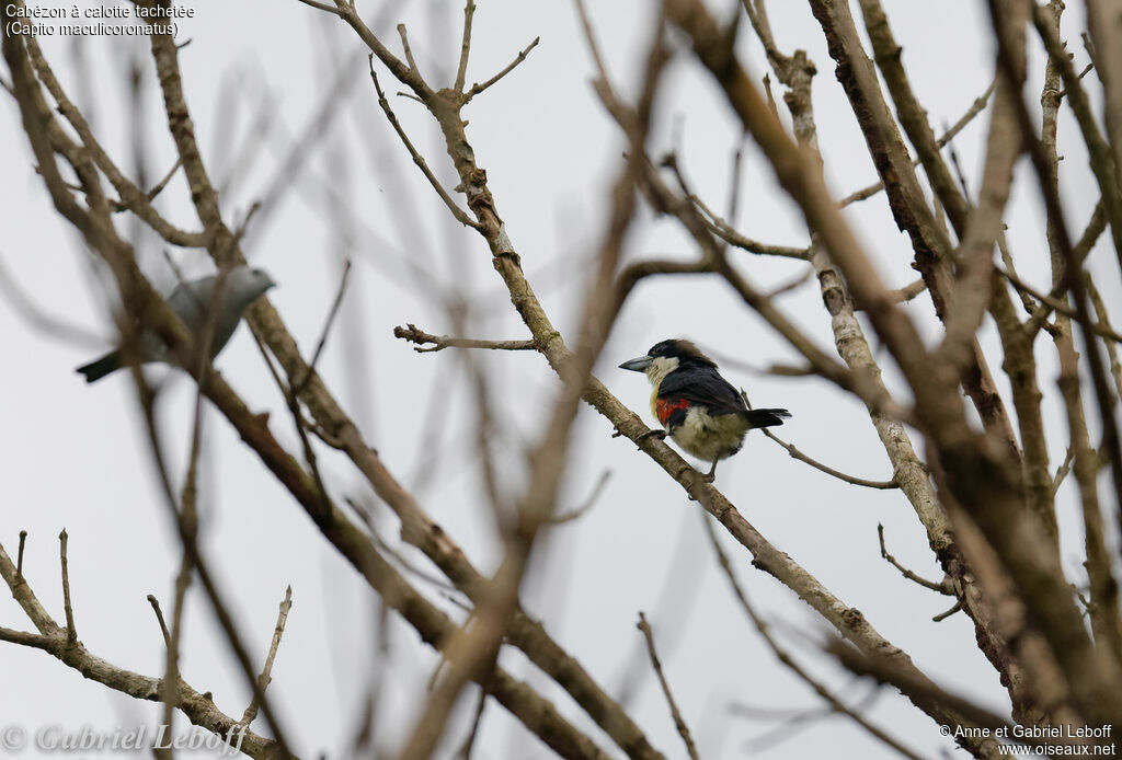
{"label": "overcast white sky behind the bare tree branches", "polygon": [[[53,0],[40,4],[48,2]],[[730,4],[711,3],[721,11]],[[939,129],[954,122],[993,74],[983,4],[972,0],[885,0],[884,4],[932,123]],[[450,83],[459,50],[459,2],[422,0],[396,6],[385,13],[388,22],[380,27],[385,41],[399,49],[393,27],[404,21],[425,75]],[[655,3],[615,0],[590,6],[608,64],[626,92],[637,81],[641,46]],[[181,24],[180,40],[190,39],[190,45],[182,49],[180,61],[187,102],[204,158],[222,188],[227,217],[239,220],[251,203],[274,192],[278,176],[291,185],[269,213],[255,220],[245,245],[254,262],[279,282],[270,298],[306,353],[314,346],[333,297],[341,257],[353,257],[343,317],[328,344],[321,371],[392,472],[415,489],[423,506],[478,567],[493,569],[497,546],[478,476],[476,415],[462,356],[453,351],[416,354],[392,335],[395,325],[406,322],[430,332],[451,332],[444,305],[453,297],[469,305],[473,335],[525,337],[486,247],[450,220],[388,129],[376,105],[366,56],[349,28],[296,0],[199,0],[193,7],[195,18]],[[384,3],[359,0],[359,7],[374,17]],[[804,47],[818,65],[815,106],[831,186],[842,196],[868,184],[875,179],[872,163],[809,8],[802,2],[776,1],[770,10],[780,47],[788,52]],[[1064,28],[1077,39],[1084,28],[1082,9],[1068,11]],[[539,36],[541,44],[528,59],[468,106],[466,114],[477,159],[487,169],[498,212],[527,276],[554,322],[568,330],[601,231],[607,185],[619,168],[623,149],[589,86],[591,64],[572,4],[480,0],[468,78],[488,78]],[[742,37],[742,53],[753,71],[762,74],[758,44],[748,34]],[[162,126],[162,101],[145,43],[53,37],[43,38],[42,44],[63,85],[86,109],[102,145],[119,165],[135,170],[134,146],[139,142],[150,157],[148,184],[158,179],[174,161],[174,146]],[[1085,54],[1074,47],[1082,66]],[[132,117],[122,86],[134,62],[142,75],[139,120]],[[1042,64],[1036,50],[1032,62],[1031,78],[1038,83]],[[379,73],[389,92],[399,90],[388,73]],[[323,129],[309,130],[320,118],[325,98],[338,112]],[[0,541],[15,556],[18,531],[28,530],[25,574],[40,600],[61,618],[56,536],[66,528],[80,638],[98,656],[156,676],[163,671],[164,645],[145,596],[155,593],[171,605],[178,543],[159,495],[131,382],[114,376],[86,387],[73,371],[112,341],[111,297],[99,286],[108,280],[96,275],[93,257],[53,212],[34,172],[15,103],[7,95],[0,96],[0,262],[4,277],[18,282],[44,312],[99,339],[81,343],[54,337],[24,319],[8,297],[0,297],[0,347],[9,358],[0,393],[4,428],[0,435]],[[449,179],[443,146],[426,112],[402,98],[393,99],[393,106],[430,165]],[[679,145],[681,163],[695,186],[710,205],[725,207],[729,159],[741,136],[719,93],[692,64],[682,61],[670,75],[662,106],[653,140],[655,154]],[[977,120],[955,142],[972,189],[980,176],[985,122]],[[1066,112],[1061,141],[1065,132],[1073,132]],[[309,163],[295,178],[285,177],[282,167],[295,143],[309,154]],[[1061,173],[1069,222],[1082,230],[1097,192],[1078,147],[1061,147],[1065,151]],[[751,143],[745,145],[744,161],[738,228],[767,242],[806,244],[801,217]],[[1019,166],[1024,177],[1027,169],[1024,164]],[[1026,183],[1014,191],[1006,221],[1022,275],[1046,282],[1042,214],[1031,189],[1032,184]],[[355,213],[351,221],[339,213],[343,203]],[[164,192],[159,207],[182,226],[197,226],[182,175]],[[885,276],[899,285],[911,281],[908,240],[895,230],[883,197],[848,213]],[[169,287],[173,276],[158,241],[125,219],[119,229],[137,241],[141,266],[150,278]],[[171,254],[191,274],[209,271],[202,252],[174,250]],[[627,252],[629,258],[691,254],[674,224],[645,212]],[[742,271],[763,286],[787,281],[806,266],[734,256]],[[1092,256],[1093,270],[1096,258],[1101,257]],[[1103,286],[1109,299],[1122,303],[1116,277]],[[785,298],[783,306],[820,345],[830,349],[828,315],[813,282]],[[909,308],[920,317],[930,316],[925,296]],[[757,367],[793,361],[792,352],[716,277],[660,280],[644,284],[628,302],[601,356],[598,377],[649,417],[646,381],[615,367],[645,353],[654,342],[674,336],[693,339],[720,355]],[[502,414],[495,439],[502,454],[503,485],[518,493],[523,447],[535,439],[559,386],[536,354],[504,353],[480,360]],[[1000,360],[992,363],[996,367]],[[283,399],[247,330],[239,331],[218,365],[256,410],[272,413],[274,433],[297,451]],[[891,476],[863,407],[826,382],[758,377],[732,365],[725,371],[734,383],[747,388],[754,404],[792,411],[793,419],[781,434],[804,452],[861,476]],[[163,382],[160,417],[178,473],[185,461],[194,393],[190,380],[180,373],[153,369],[150,377]],[[1055,388],[1049,377],[1042,384],[1046,392]],[[1064,429],[1055,405],[1046,419],[1054,429]],[[524,587],[526,608],[544,619],[550,632],[599,683],[613,694],[629,695],[633,714],[668,757],[682,757],[683,751],[645,660],[636,659],[640,610],[651,618],[668,677],[706,760],[889,757],[882,745],[844,719],[784,730],[771,717],[729,714],[734,703],[795,711],[820,705],[775,661],[735,606],[705,538],[700,509],[687,502],[680,489],[633,445],[611,438],[610,433],[604,418],[588,408],[581,410],[564,503],[582,501],[603,471],[609,470],[611,478],[588,515],[551,534]],[[1061,460],[1063,449],[1052,455]],[[324,453],[322,463],[337,493],[369,495],[347,462]],[[203,479],[205,549],[234,602],[255,658],[264,656],[285,586],[293,587],[294,606],[269,695],[286,719],[295,749],[305,758],[348,757],[380,643],[375,636],[371,592],[218,415],[208,417]],[[745,451],[719,467],[717,484],[765,537],[862,610],[931,677],[995,710],[1005,704],[996,674],[974,645],[969,621],[956,615],[931,622],[932,614],[949,606],[947,599],[908,583],[879,556],[876,525],[883,522],[896,557],[921,574],[938,577],[923,531],[902,494],[831,480],[789,458],[762,436],[751,436]],[[1080,532],[1073,504],[1072,494],[1066,493],[1060,520],[1065,538],[1076,541]],[[383,535],[395,537],[396,521],[387,509],[378,509]],[[799,657],[850,702],[868,695],[871,685],[854,683],[815,652],[813,639],[824,630],[815,615],[792,592],[752,568],[741,547],[730,540],[726,544],[748,593]],[[413,554],[417,565],[426,567]],[[1073,581],[1082,580],[1075,562],[1069,572]],[[439,593],[419,583],[431,599],[454,611]],[[18,605],[7,594],[0,596],[0,625],[27,629]],[[191,599],[186,620],[185,678],[200,691],[213,692],[227,713],[240,714],[248,692],[199,593]],[[435,659],[412,629],[399,623],[392,627],[388,646],[387,692],[377,731],[379,745],[393,750],[423,704],[424,684]],[[533,675],[521,654],[506,654],[504,664],[539,685],[567,716],[611,751],[610,742],[560,689]],[[118,725],[155,724],[162,714],[159,705],[111,693],[29,649],[0,646],[0,674],[4,682],[0,729],[15,724],[35,733],[57,724],[111,731]],[[451,757],[462,741],[473,698],[461,701],[460,706],[440,757]],[[866,712],[925,757],[953,749],[929,719],[894,694],[884,692]],[[769,733],[784,741],[767,749],[751,743]],[[26,749],[20,757],[40,756]],[[491,704],[476,757],[528,759],[549,757],[549,752]]]}

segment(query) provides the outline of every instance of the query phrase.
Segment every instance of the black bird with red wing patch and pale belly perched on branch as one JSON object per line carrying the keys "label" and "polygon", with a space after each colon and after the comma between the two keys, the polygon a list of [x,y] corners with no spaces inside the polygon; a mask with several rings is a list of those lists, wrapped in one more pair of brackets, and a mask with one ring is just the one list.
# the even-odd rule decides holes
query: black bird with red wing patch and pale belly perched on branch
{"label": "black bird with red wing patch and pale belly perched on branch", "polygon": [[717,362],[689,341],[656,343],[645,356],[619,369],[646,374],[654,393],[651,411],[674,443],[699,460],[712,462],[705,479],[712,482],[717,462],[741,451],[744,436],[756,427],[782,425],[787,409],[748,409],[744,397],[717,372]]}

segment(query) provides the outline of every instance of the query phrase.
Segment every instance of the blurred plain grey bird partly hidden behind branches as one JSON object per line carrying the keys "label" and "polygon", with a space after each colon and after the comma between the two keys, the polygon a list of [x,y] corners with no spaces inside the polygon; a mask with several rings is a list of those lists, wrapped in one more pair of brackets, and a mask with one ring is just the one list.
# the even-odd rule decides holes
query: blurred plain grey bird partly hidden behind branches
{"label": "blurred plain grey bird partly hidden behind branches", "polygon": [[[180,282],[167,298],[167,305],[196,337],[201,337],[201,332],[206,326],[208,313],[214,302],[214,288],[218,281],[219,276],[211,275],[190,282]],[[246,308],[275,286],[276,282],[264,269],[250,269],[246,265],[238,265],[230,269],[221,286],[218,313],[214,317],[210,341],[211,359],[214,359],[229,342],[233,331],[241,323],[241,315]],[[141,361],[145,363],[171,361],[164,341],[150,330],[141,333],[138,345],[142,356]],[[89,364],[79,367],[76,371],[84,374],[85,381],[90,383],[101,380],[125,365],[121,351],[117,349]]]}

